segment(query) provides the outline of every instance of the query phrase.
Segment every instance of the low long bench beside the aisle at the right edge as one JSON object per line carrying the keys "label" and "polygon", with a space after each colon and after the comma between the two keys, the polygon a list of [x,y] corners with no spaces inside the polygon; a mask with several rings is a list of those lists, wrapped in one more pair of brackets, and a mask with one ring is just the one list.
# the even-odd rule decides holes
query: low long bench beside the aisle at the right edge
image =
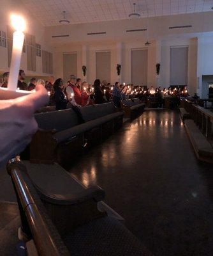
{"label": "low long bench beside the aisle at the right edge", "polygon": [[185,120],[184,122],[187,134],[193,145],[196,156],[201,161],[213,163],[213,148],[202,132],[198,129],[193,120]]}

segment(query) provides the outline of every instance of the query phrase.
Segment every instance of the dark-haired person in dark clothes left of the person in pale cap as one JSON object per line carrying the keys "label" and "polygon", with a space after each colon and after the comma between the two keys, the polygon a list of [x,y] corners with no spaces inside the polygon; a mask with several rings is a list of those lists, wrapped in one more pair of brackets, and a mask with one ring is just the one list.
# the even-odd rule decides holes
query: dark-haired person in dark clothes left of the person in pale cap
{"label": "dark-haired person in dark clothes left of the person in pale cap", "polygon": [[66,109],[69,102],[65,93],[63,92],[64,81],[61,78],[55,80],[54,83],[54,100],[55,100],[55,110]]}

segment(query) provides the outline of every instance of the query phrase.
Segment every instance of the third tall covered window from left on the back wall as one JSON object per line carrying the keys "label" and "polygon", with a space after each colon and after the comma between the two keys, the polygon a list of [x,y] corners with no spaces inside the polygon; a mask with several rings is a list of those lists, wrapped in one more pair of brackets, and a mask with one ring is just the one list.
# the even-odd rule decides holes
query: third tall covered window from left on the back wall
{"label": "third tall covered window from left on the back wall", "polygon": [[131,50],[131,83],[147,85],[148,50]]}

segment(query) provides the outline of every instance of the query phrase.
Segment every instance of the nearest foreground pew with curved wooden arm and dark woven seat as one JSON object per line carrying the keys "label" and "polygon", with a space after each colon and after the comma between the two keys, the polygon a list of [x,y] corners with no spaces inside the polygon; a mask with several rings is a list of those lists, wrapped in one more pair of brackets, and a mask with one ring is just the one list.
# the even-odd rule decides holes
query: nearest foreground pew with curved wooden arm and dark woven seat
{"label": "nearest foreground pew with curved wooden arm and dark woven seat", "polygon": [[41,164],[25,164],[27,168],[17,161],[8,164],[8,173],[29,256],[152,255],[120,221],[99,212],[103,189],[84,188],[66,171],[57,173],[60,166],[50,175]]}

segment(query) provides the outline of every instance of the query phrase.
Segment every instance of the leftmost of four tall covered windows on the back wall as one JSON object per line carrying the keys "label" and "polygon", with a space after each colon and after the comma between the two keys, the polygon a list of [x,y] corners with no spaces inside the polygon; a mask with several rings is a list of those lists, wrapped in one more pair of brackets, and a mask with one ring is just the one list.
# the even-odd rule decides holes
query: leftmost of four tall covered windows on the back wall
{"label": "leftmost of four tall covered windows on the back wall", "polygon": [[77,52],[63,54],[64,81],[70,79],[70,75],[77,76]]}

